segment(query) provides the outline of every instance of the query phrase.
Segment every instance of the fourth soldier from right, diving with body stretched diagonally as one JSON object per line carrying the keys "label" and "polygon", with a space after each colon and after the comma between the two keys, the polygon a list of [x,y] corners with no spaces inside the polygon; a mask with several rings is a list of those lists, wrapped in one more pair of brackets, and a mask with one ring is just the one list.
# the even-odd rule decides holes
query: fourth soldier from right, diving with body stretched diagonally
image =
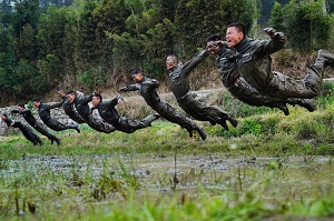
{"label": "fourth soldier from right, diving with body stretched diagonally", "polygon": [[203,140],[206,139],[206,133],[203,128],[199,128],[193,120],[183,115],[179,111],[159,98],[156,91],[156,89],[159,87],[159,82],[157,80],[144,77],[141,70],[134,70],[131,74],[136,84],[126,86],[119,91],[139,90],[140,96],[145,99],[147,104],[166,120],[185,128],[190,138],[193,137],[193,130],[196,130]]}

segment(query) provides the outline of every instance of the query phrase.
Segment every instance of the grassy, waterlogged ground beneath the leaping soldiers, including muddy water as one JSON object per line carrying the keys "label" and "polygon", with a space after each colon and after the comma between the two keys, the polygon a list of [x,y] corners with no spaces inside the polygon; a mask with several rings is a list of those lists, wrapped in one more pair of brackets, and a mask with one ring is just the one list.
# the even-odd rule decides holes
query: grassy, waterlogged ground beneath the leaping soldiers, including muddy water
{"label": "grassy, waterlogged ground beneath the leaping soldiers, including muddy water", "polygon": [[239,124],[198,122],[205,141],[164,120],[132,134],[81,125],[57,133],[60,147],[6,137],[0,219],[332,220],[333,86],[323,91],[316,111],[288,117],[214,94]]}

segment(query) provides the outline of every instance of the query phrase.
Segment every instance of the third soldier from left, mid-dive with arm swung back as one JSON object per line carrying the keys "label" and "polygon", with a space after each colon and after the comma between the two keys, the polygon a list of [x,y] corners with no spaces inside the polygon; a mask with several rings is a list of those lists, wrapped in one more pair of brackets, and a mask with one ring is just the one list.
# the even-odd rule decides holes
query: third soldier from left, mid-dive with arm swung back
{"label": "third soldier from left, mid-dive with arm swung back", "polygon": [[50,110],[55,108],[59,108],[62,104],[62,101],[55,103],[55,104],[47,104],[47,103],[41,103],[40,99],[33,99],[33,106],[37,108],[38,114],[40,119],[48,125],[50,129],[55,131],[62,131],[67,129],[75,129],[77,130],[78,133],[80,133],[80,128],[78,124],[63,124],[56,120],[55,118],[51,118]]}

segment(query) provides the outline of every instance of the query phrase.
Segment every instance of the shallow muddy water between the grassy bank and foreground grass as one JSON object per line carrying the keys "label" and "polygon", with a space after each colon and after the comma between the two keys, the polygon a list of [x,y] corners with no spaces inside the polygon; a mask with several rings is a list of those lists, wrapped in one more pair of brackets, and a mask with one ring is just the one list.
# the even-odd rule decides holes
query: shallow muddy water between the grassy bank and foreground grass
{"label": "shallow muddy water between the grassy bank and foreground grass", "polygon": [[[196,189],[198,184],[212,189],[240,190],[255,182],[268,182],[283,195],[301,198],[308,194],[325,195],[334,189],[334,167],[331,158],[288,157],[278,158],[227,158],[224,155],[26,155],[7,161],[0,170],[4,179],[26,173],[72,177],[99,180],[102,173],[122,179],[135,175],[141,190],[169,191]],[[126,171],[126,172],[125,172]]]}

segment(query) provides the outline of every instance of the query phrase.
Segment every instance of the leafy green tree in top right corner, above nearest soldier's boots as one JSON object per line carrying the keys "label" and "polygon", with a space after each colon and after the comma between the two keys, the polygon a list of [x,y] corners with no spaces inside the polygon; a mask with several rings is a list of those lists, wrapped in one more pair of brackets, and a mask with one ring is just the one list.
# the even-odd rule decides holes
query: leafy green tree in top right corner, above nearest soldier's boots
{"label": "leafy green tree in top right corner, above nearest soldier's boots", "polygon": [[292,0],[284,7],[275,3],[271,23],[285,31],[292,48],[311,51],[327,46],[333,21],[323,0]]}

